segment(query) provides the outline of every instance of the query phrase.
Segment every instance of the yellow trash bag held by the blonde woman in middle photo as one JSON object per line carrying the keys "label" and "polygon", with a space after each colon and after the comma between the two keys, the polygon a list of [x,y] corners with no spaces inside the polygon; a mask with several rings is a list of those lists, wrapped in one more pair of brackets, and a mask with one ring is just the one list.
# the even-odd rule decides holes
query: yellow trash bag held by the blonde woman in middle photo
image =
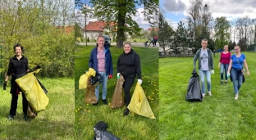
{"label": "yellow trash bag held by the blonde woman in middle photo", "polygon": [[151,119],[156,119],[156,117],[153,115],[151,107],[149,106],[148,99],[145,96],[144,91],[139,83],[136,84],[135,92],[130,99],[128,109],[138,115],[143,115]]}

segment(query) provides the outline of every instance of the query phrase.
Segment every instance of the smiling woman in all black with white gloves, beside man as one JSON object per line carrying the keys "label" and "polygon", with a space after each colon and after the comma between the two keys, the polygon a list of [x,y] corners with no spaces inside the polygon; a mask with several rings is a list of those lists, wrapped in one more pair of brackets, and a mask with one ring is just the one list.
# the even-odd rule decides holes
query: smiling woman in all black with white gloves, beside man
{"label": "smiling woman in all black with white gloves, beside man", "polygon": [[142,84],[139,55],[131,48],[130,43],[124,43],[124,52],[118,57],[117,61],[117,79],[119,75],[125,79],[123,88],[125,91],[126,111],[124,115],[129,114],[127,106],[130,104],[130,88],[135,83],[137,75],[139,84]]}

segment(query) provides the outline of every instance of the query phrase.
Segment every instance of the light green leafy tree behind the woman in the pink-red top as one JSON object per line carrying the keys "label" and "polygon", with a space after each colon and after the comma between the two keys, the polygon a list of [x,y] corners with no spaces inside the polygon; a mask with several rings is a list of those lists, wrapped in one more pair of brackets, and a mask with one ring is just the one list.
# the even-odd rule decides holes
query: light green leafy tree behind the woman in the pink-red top
{"label": "light green leafy tree behind the woman in the pink-red top", "polygon": [[215,19],[214,31],[215,31],[215,43],[217,48],[222,48],[229,43],[230,40],[230,23],[226,20],[226,17],[217,17]]}

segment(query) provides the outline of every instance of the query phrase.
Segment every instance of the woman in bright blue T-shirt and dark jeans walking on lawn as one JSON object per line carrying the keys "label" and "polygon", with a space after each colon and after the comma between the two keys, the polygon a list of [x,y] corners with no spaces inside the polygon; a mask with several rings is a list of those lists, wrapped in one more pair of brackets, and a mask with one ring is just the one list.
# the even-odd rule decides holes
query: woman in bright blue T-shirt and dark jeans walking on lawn
{"label": "woman in bright blue T-shirt and dark jeans walking on lawn", "polygon": [[241,88],[243,81],[245,81],[245,77],[243,75],[243,64],[245,65],[245,69],[247,71],[247,75],[249,76],[249,69],[247,62],[245,60],[245,54],[240,53],[240,47],[235,46],[235,54],[231,56],[231,61],[227,70],[227,77],[231,76],[233,82],[233,88],[235,91],[235,100],[238,99],[239,89]]}

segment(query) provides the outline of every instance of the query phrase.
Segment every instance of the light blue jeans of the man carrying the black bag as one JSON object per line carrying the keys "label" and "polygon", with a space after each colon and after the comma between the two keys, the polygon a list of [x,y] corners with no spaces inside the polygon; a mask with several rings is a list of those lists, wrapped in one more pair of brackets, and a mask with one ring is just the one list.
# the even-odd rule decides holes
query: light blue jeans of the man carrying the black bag
{"label": "light blue jeans of the man carrying the black bag", "polygon": [[210,70],[199,70],[199,75],[202,84],[202,93],[205,94],[204,75],[206,75],[208,92],[211,92],[211,71]]}

